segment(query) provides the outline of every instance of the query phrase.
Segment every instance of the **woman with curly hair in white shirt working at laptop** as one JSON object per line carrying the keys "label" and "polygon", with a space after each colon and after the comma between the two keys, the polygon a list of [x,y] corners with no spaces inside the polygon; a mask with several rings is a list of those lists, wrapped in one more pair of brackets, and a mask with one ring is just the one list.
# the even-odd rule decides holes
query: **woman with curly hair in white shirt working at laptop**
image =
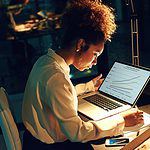
{"label": "woman with curly hair in white shirt working at laptop", "polygon": [[40,57],[27,81],[23,149],[93,149],[88,141],[122,134],[124,125],[143,121],[141,112],[88,122],[77,113],[77,94],[96,90],[101,80],[97,77],[74,87],[69,66],[83,71],[96,65],[116,29],[113,10],[98,1],[74,0],[65,9],[61,23],[60,49],[49,49]]}

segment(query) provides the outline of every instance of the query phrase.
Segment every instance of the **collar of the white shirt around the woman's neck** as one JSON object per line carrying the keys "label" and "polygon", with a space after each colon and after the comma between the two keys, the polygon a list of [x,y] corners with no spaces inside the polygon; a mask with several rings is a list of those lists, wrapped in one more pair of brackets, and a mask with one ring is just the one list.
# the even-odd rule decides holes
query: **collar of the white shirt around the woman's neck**
{"label": "collar of the white shirt around the woman's neck", "polygon": [[65,60],[58,54],[56,54],[52,49],[48,49],[48,56],[52,57],[55,59],[55,61],[60,65],[60,67],[69,75],[70,73],[70,68],[65,62]]}

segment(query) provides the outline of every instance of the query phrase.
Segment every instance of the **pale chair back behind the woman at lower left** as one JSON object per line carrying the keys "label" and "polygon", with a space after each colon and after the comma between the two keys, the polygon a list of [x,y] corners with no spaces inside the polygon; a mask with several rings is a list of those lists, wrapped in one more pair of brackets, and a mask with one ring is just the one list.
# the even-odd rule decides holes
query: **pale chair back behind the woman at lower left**
{"label": "pale chair back behind the woman at lower left", "polygon": [[18,128],[9,108],[7,93],[3,87],[0,87],[0,127],[7,150],[21,150]]}

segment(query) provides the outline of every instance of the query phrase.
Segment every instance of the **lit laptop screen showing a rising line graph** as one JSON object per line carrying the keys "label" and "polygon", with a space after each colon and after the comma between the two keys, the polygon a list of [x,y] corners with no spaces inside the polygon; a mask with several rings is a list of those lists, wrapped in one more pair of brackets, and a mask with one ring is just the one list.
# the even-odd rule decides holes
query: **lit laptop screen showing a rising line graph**
{"label": "lit laptop screen showing a rising line graph", "polygon": [[133,104],[149,77],[148,70],[115,62],[99,91]]}

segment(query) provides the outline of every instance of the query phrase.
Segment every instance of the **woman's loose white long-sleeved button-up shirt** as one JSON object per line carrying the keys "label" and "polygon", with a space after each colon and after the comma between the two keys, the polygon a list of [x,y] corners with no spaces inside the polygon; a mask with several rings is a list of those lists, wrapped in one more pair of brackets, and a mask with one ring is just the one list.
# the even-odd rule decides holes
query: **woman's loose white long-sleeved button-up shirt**
{"label": "woman's loose white long-sleeved button-up shirt", "polygon": [[65,60],[49,49],[33,66],[24,92],[22,119],[25,127],[45,143],[87,142],[123,132],[117,115],[101,121],[83,121],[77,113],[77,93],[93,90],[92,82],[73,86]]}

